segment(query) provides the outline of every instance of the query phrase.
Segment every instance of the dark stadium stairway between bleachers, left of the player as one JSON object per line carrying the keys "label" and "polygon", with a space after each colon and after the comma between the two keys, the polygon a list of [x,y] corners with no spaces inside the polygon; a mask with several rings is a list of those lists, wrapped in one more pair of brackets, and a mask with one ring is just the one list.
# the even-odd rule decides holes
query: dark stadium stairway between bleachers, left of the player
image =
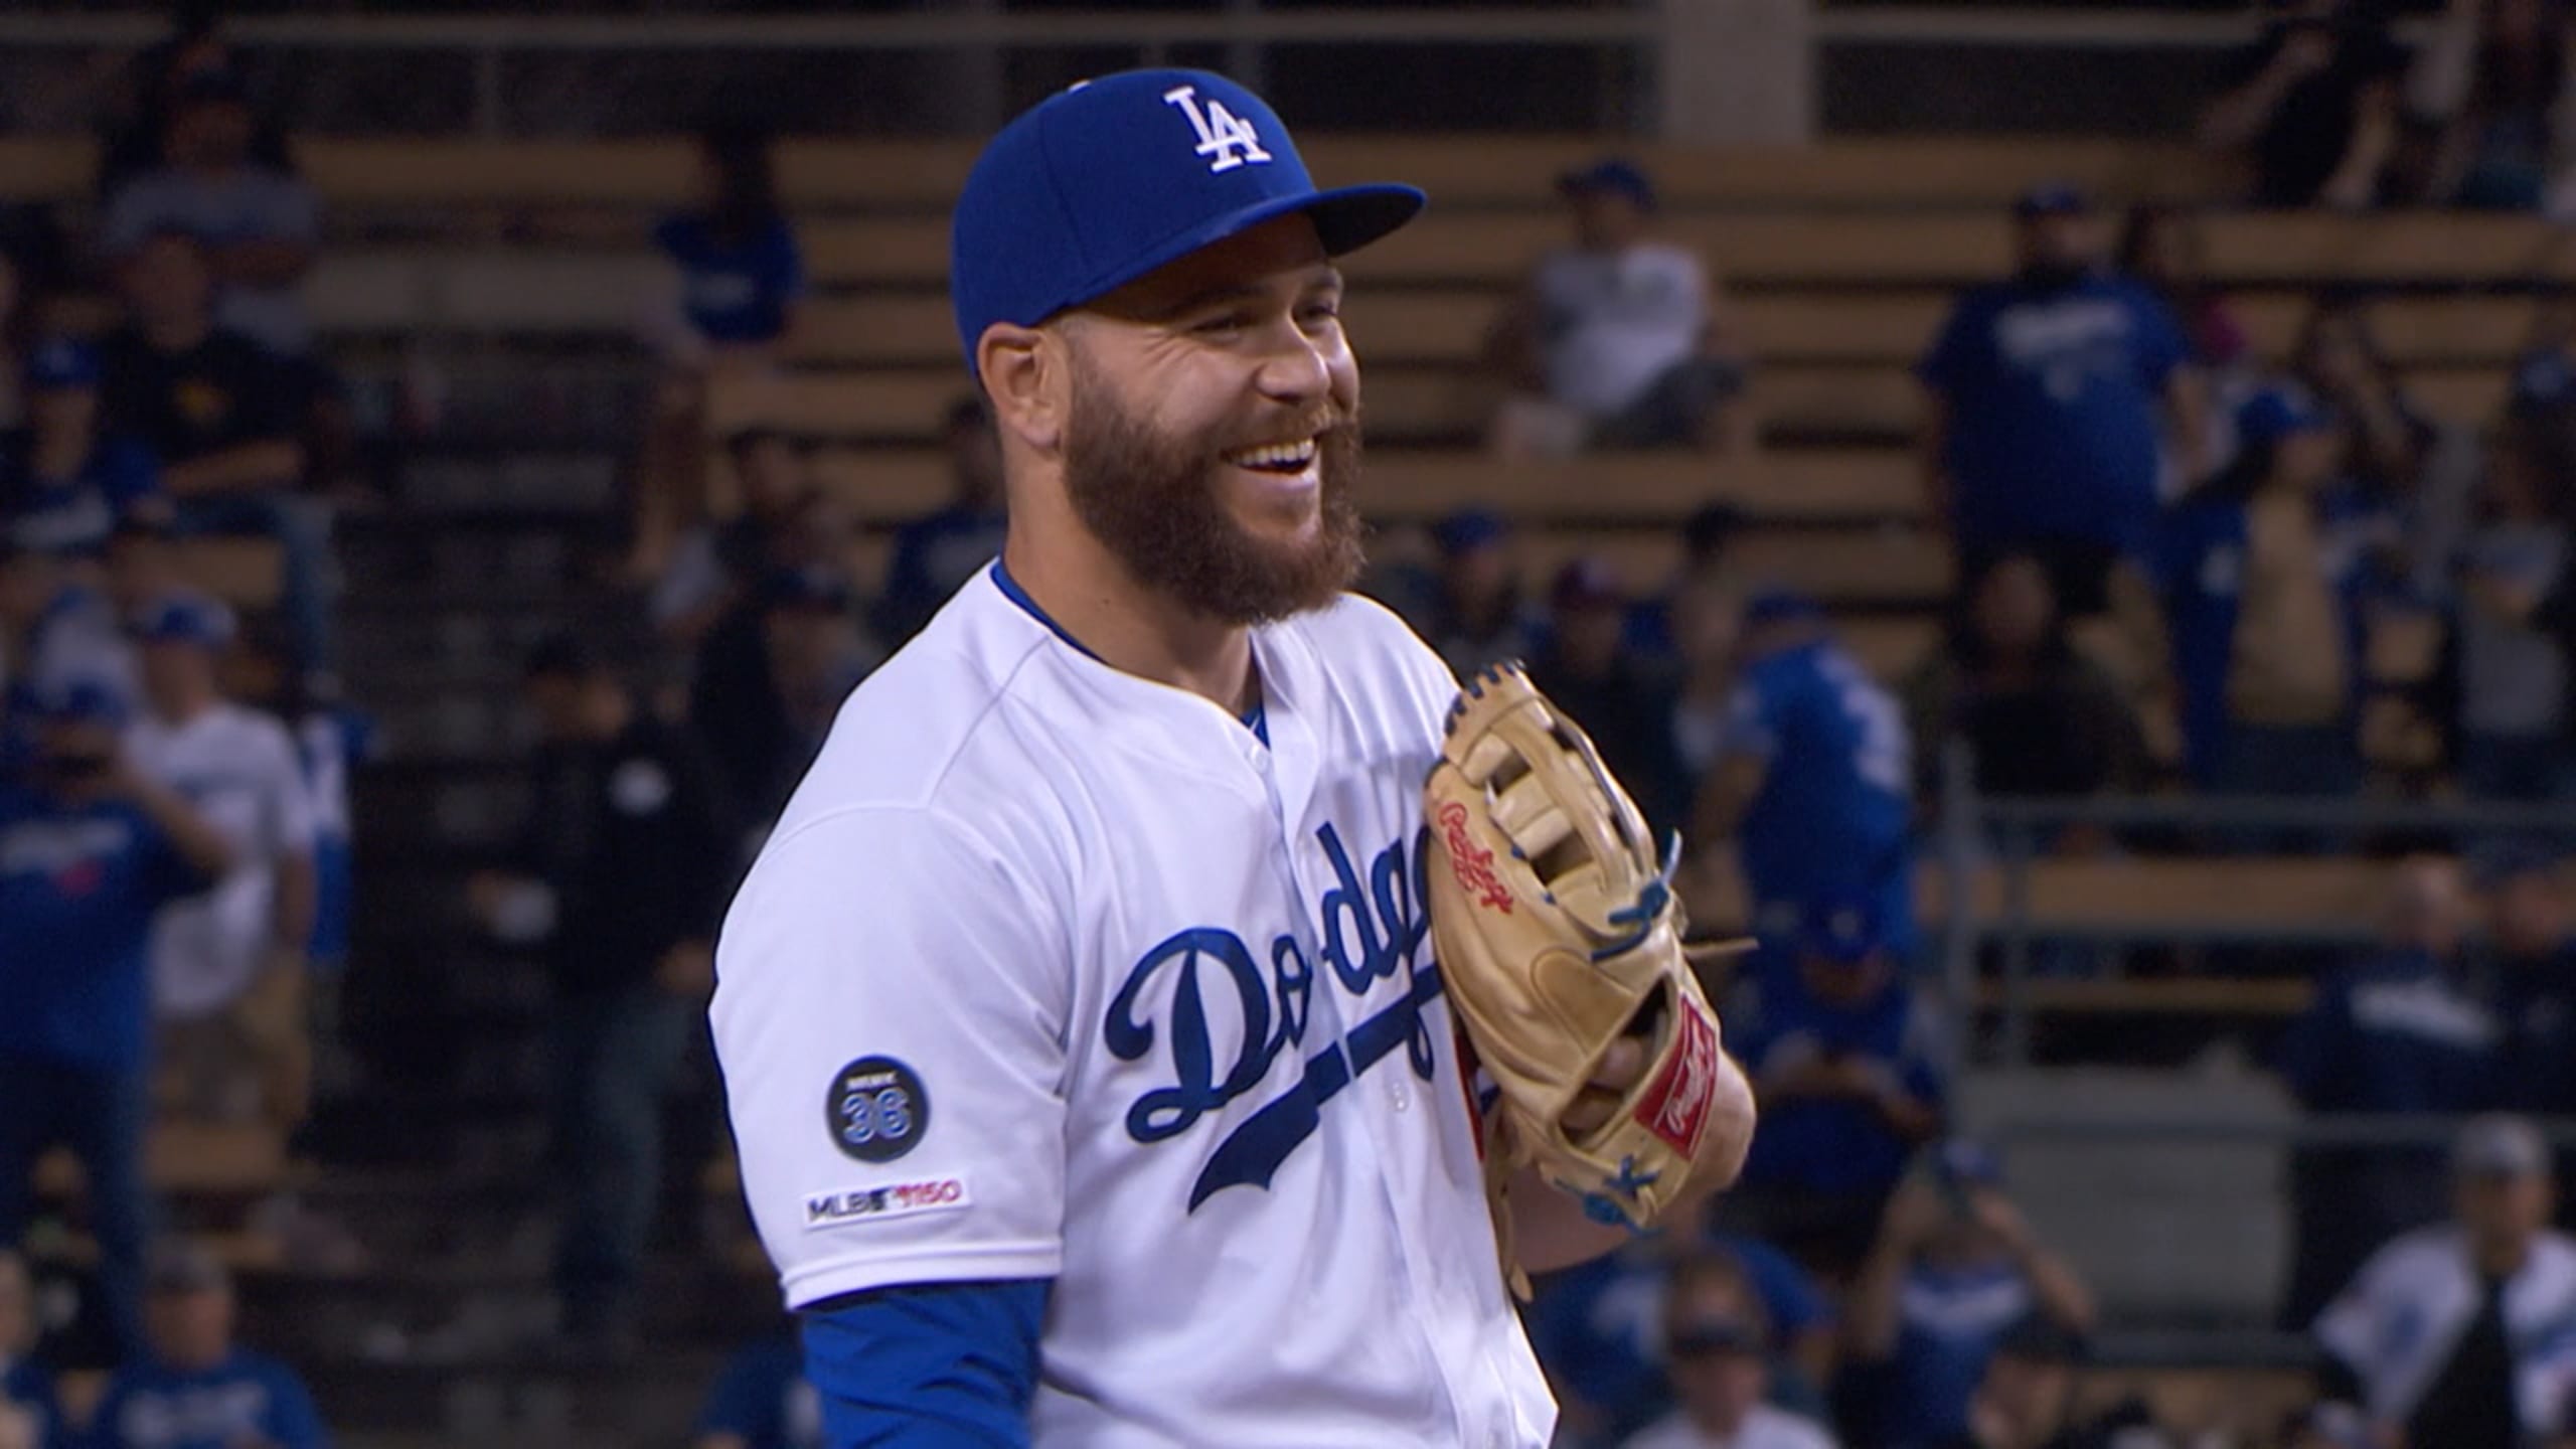
{"label": "dark stadium stairway between bleachers, left of the player", "polygon": [[358,1449],[677,1446],[721,1356],[770,1325],[739,1238],[693,1232],[726,1201],[683,1191],[639,1356],[577,1364],[536,1346],[551,1323],[546,985],[528,954],[474,931],[464,879],[520,820],[526,647],[556,627],[618,660],[652,645],[600,583],[644,379],[564,364],[518,382],[453,400],[402,443],[392,505],[340,529],[348,691],[376,724],[355,773],[358,1073],[317,1111],[296,1196],[366,1261],[319,1266],[289,1245],[245,1266],[242,1307],[247,1341],[299,1364]]}

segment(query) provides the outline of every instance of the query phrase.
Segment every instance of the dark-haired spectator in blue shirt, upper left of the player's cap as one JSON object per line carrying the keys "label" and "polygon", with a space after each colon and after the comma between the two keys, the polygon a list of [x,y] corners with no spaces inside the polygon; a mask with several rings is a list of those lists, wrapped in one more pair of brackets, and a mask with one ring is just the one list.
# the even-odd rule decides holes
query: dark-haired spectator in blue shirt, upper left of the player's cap
{"label": "dark-haired spectator in blue shirt, upper left of the player's cap", "polygon": [[662,219],[652,240],[680,268],[680,309],[701,343],[739,348],[786,335],[806,276],[765,137],[703,137],[698,206]]}

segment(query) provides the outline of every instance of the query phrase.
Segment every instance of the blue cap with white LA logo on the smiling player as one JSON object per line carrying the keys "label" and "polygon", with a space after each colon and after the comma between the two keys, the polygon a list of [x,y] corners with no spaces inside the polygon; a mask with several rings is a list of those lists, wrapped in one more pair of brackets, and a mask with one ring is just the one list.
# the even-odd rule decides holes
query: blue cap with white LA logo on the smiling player
{"label": "blue cap with white LA logo on the smiling player", "polygon": [[1048,95],[976,157],[948,235],[966,371],[994,322],[1038,322],[1301,211],[1327,255],[1425,206],[1396,183],[1319,191],[1270,106],[1206,70],[1126,70]]}

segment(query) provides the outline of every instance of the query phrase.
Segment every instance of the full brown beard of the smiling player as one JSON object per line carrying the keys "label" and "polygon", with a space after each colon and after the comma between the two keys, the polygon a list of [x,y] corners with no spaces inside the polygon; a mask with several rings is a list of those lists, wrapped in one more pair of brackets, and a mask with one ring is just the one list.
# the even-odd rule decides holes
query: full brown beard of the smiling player
{"label": "full brown beard of the smiling player", "polygon": [[1360,578],[1358,418],[1316,431],[1314,539],[1275,544],[1244,531],[1216,492],[1218,467],[1211,449],[1154,433],[1108,387],[1074,379],[1064,490],[1136,583],[1224,624],[1270,624],[1332,603]]}

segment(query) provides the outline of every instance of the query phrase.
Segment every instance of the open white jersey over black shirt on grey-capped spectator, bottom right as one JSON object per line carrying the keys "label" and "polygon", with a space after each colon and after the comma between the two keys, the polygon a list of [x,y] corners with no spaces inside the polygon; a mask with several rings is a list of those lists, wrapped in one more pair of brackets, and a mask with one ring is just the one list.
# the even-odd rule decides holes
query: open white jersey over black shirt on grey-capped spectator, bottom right
{"label": "open white jersey over black shirt on grey-capped spectator, bottom right", "polygon": [[[2318,1315],[2316,1336],[2362,1379],[2370,1415],[2398,1423],[2450,1364],[2478,1294],[2468,1235],[2447,1222],[2419,1227],[2362,1263]],[[2504,1281],[2504,1333],[2522,1426],[2555,1434],[2576,1403],[2576,1240],[2543,1232],[2532,1243],[2522,1271]]]}

